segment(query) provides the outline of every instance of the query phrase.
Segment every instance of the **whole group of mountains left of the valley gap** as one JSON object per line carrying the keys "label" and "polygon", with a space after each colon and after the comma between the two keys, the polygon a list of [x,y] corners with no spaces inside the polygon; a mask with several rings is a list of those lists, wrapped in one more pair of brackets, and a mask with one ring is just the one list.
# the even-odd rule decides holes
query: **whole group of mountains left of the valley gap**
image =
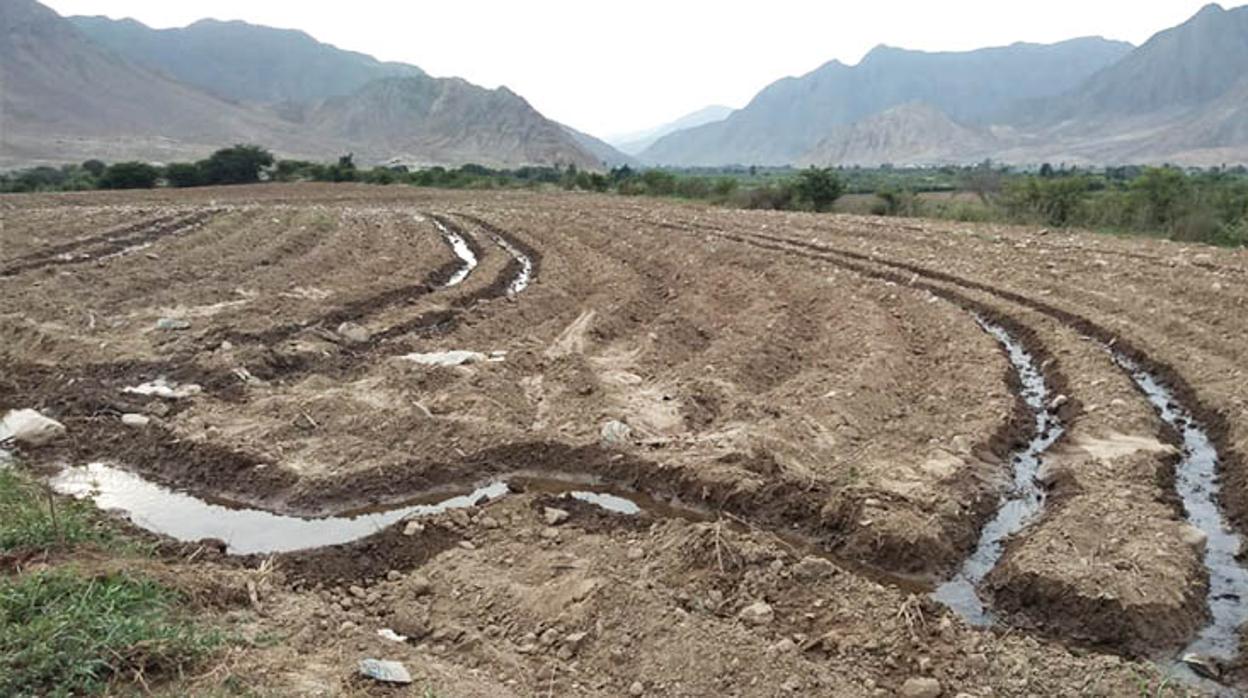
{"label": "whole group of mountains left of the valley gap", "polygon": [[362,164],[602,169],[599,156],[505,87],[436,79],[241,22],[77,24],[115,49],[35,0],[0,0],[0,166],[187,160],[255,142],[283,157],[354,152]]}

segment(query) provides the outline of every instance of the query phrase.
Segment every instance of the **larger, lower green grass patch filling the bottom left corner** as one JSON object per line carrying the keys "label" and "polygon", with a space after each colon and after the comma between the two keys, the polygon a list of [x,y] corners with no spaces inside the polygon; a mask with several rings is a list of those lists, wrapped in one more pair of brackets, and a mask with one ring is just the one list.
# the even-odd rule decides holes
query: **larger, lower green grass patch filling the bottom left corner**
{"label": "larger, lower green grass patch filling the bottom left corner", "polygon": [[222,642],[185,618],[181,601],[124,573],[0,581],[0,696],[97,694],[114,679],[180,676]]}

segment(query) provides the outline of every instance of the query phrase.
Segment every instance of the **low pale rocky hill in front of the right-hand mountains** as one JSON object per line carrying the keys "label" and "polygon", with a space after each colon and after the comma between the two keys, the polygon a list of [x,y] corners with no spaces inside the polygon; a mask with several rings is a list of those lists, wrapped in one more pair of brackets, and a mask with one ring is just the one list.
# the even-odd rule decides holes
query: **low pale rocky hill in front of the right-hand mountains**
{"label": "low pale rocky hill in front of the right-hand mountains", "polygon": [[978,162],[996,149],[986,131],[956,124],[932,105],[895,106],[847,126],[836,126],[799,165],[897,166]]}

